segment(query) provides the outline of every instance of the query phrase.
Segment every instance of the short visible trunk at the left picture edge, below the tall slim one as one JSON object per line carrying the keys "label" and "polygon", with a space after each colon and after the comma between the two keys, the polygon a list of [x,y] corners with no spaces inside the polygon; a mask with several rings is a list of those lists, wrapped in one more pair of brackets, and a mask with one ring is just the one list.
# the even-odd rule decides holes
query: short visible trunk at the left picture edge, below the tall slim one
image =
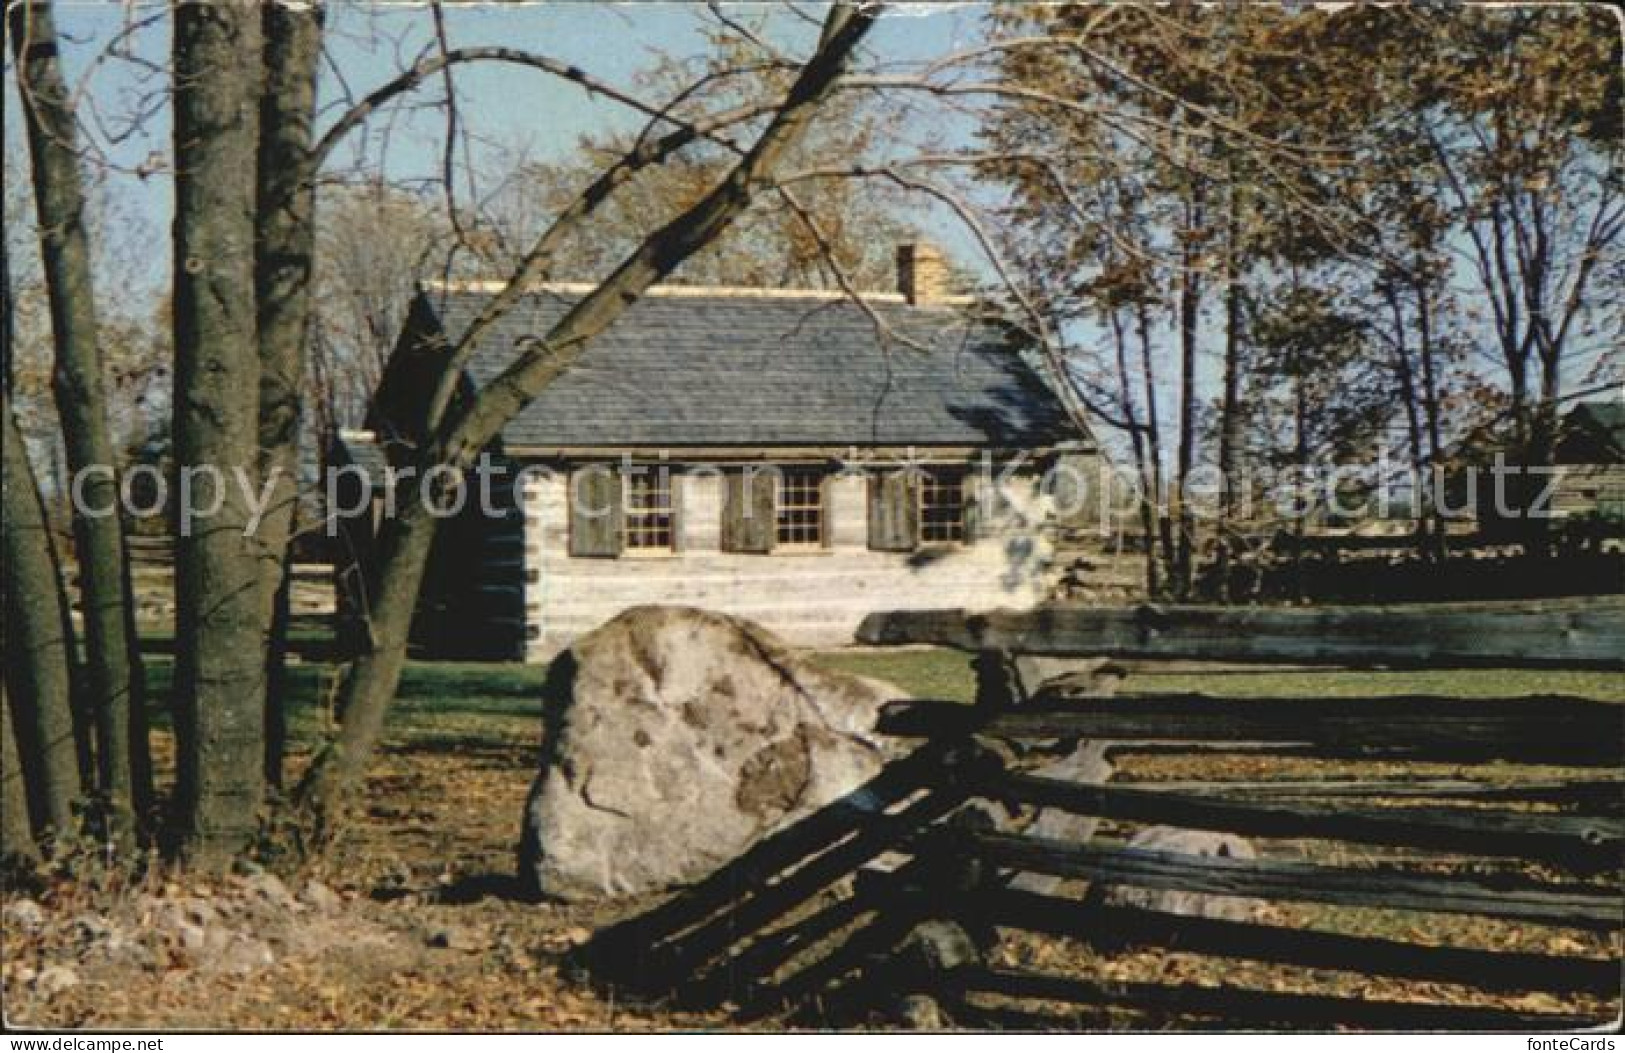
{"label": "short visible trunk at the left picture edge, below the tall slim one", "polygon": [[5,681],[16,707],[18,748],[29,786],[34,826],[46,837],[73,830],[80,795],[78,748],[73,738],[73,622],[68,619],[62,569],[57,564],[46,505],[34,483],[11,400],[0,408],[5,436]]}

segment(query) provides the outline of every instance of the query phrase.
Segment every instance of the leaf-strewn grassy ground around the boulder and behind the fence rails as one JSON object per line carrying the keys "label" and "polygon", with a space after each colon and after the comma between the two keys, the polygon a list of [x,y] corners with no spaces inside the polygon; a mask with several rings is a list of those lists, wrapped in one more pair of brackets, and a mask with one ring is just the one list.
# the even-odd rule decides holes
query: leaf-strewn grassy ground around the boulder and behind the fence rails
{"label": "leaf-strewn grassy ground around the boulder and behind the fence rails", "polygon": [[[289,670],[289,775],[297,778],[312,746],[332,731],[338,666],[325,661],[325,644],[301,640]],[[899,692],[928,699],[968,700],[975,684],[968,656],[951,650],[847,650],[817,656],[827,666],[873,676]],[[167,652],[151,653],[154,725],[162,783],[172,778],[174,751],[167,728],[172,665]],[[84,967],[84,982],[39,1009],[37,1019],[72,1027],[247,1027],[247,1029],[686,1029],[723,1027],[722,1016],[682,1016],[666,1006],[619,1004],[582,985],[561,954],[627,905],[528,904],[515,899],[514,847],[526,791],[536,774],[541,738],[544,666],[481,663],[410,663],[390,713],[385,741],[367,772],[354,822],[335,850],[315,863],[315,876],[338,889],[344,910],[299,921],[299,941],[288,942],[276,964],[223,983],[195,970],[119,964]],[[1484,696],[1584,694],[1625,702],[1625,678],[1596,673],[1474,670],[1289,671],[1157,666],[1133,671],[1128,692],[1209,692],[1276,697],[1362,694]],[[1336,762],[1269,756],[1134,754],[1115,757],[1118,778],[1131,783],[1224,778],[1328,778]],[[1402,769],[1402,770],[1401,770]],[[1436,769],[1436,770],[1435,770]],[[1367,764],[1360,777],[1466,777],[1453,765]],[[1558,772],[1560,775],[1560,772]],[[1347,774],[1341,777],[1349,777]],[[1479,777],[1495,778],[1480,769]],[[1545,777],[1534,770],[1519,778]],[[1124,824],[1105,824],[1105,837],[1124,837]],[[1391,863],[1358,845],[1264,838],[1259,850],[1316,860],[1334,850],[1337,864]],[[1497,871],[1500,873],[1500,871]],[[302,876],[301,876],[302,879]],[[197,892],[197,889],[192,889]],[[101,907],[99,907],[101,908]],[[68,905],[68,913],[83,907]],[[1389,939],[1445,942],[1526,952],[1581,952],[1615,957],[1609,936],[1554,936],[1472,916],[1415,915],[1389,910],[1272,904],[1266,920],[1285,928],[1376,934]],[[297,920],[296,920],[297,921]],[[333,928],[338,926],[338,928]],[[333,931],[328,931],[333,930]],[[67,930],[65,930],[67,931]],[[76,931],[76,930],[75,930]],[[462,933],[479,952],[437,942],[434,933]],[[76,939],[76,936],[75,936]],[[1566,942],[1565,942],[1566,941]],[[304,947],[304,949],[301,949]],[[167,959],[166,959],[167,960]],[[1266,991],[1300,991],[1376,999],[1454,999],[1516,1006],[1526,1011],[1578,1009],[1597,1019],[1617,1014],[1618,1003],[1565,1003],[1545,996],[1482,996],[1430,985],[1354,973],[1294,970],[1268,962],[1214,959],[1165,947],[1095,952],[1082,944],[1030,934],[1006,934],[996,962],[1058,975],[1121,982],[1233,985]],[[8,1012],[11,1006],[8,1004]],[[1090,1025],[1190,1025],[1178,1019],[1108,1019]]]}

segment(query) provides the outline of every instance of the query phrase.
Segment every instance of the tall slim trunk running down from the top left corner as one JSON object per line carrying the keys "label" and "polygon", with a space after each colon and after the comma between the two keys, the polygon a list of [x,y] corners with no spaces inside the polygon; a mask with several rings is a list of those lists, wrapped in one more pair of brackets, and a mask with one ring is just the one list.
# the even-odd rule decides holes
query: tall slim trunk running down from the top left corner
{"label": "tall slim trunk running down from the top left corner", "polygon": [[[11,50],[24,101],[39,254],[55,346],[52,387],[68,471],[83,481],[73,502],[73,538],[84,614],[83,705],[96,730],[96,783],[117,842],[151,804],[145,682],[135,601],[119,515],[117,453],[107,418],[86,200],[80,182],[73,102],[62,78],[52,6],[10,11]],[[98,514],[112,509],[110,514]]]}

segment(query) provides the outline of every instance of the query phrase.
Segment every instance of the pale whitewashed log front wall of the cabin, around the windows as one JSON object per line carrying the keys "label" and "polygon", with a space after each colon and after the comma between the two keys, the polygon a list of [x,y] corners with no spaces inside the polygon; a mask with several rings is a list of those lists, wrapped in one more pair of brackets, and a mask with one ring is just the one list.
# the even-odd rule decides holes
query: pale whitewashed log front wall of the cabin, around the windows
{"label": "pale whitewashed log front wall of the cabin, around the windows", "polygon": [[569,554],[567,476],[526,481],[526,661],[546,661],[577,635],[648,603],[739,614],[801,647],[840,647],[873,611],[1025,608],[1055,583],[1053,549],[1042,530],[1050,499],[1030,476],[1004,488],[1008,509],[977,540],[913,554],[869,551],[868,489],[860,476],[829,481],[824,549],[765,556],[722,551],[717,474],[674,474],[673,486],[676,552],[590,559]]}

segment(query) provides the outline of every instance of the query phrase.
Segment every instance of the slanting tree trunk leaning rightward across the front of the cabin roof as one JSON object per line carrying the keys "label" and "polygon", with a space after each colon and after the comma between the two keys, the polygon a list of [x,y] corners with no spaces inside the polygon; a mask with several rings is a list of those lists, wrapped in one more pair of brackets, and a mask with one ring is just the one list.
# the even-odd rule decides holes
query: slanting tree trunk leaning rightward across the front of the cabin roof
{"label": "slanting tree trunk leaning rightward across the front of the cabin roof", "polygon": [[[500,427],[567,369],[595,336],[626,312],[627,306],[684,260],[712,244],[749,206],[754,193],[772,179],[878,15],[879,11],[871,6],[832,6],[817,52],[803,67],[762,136],[728,177],[699,203],[645,239],[609,278],[577,302],[543,341],[526,348],[514,366],[479,392],[471,405],[447,418],[426,444],[419,466],[468,466]],[[457,358],[455,349],[450,358]],[[322,843],[335,832],[351,788],[366,774],[384,731],[388,704],[400,682],[411,613],[436,530],[436,520],[424,505],[421,500],[408,502],[401,514],[384,526],[379,590],[374,603],[374,645],[356,661],[344,682],[344,722],[338,741],[315,759],[299,788],[299,804],[315,843]]]}

